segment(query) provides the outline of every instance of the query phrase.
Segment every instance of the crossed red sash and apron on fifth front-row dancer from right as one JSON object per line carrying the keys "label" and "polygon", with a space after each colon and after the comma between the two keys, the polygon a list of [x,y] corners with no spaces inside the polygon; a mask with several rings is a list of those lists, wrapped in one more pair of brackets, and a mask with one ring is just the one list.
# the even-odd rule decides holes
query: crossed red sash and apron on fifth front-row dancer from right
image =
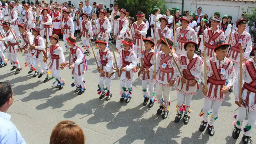
{"label": "crossed red sash and apron on fifth front-row dancer from right", "polygon": [[[146,56],[146,54],[145,54],[145,50],[142,50],[142,55],[144,55],[144,57],[143,57],[143,61],[144,61],[144,68],[150,68],[151,66],[152,66],[152,64],[150,63],[150,60],[152,59],[152,56],[155,54],[154,52],[150,52],[150,53],[148,53],[148,55]],[[139,72],[138,72],[138,76],[140,76],[141,75],[141,70],[142,70],[142,68],[139,70]],[[148,76],[148,79],[150,78],[149,77],[149,74],[147,74],[147,76]],[[145,72],[143,73],[143,76],[142,76],[142,80],[145,80],[146,79],[146,74],[145,74]]]}

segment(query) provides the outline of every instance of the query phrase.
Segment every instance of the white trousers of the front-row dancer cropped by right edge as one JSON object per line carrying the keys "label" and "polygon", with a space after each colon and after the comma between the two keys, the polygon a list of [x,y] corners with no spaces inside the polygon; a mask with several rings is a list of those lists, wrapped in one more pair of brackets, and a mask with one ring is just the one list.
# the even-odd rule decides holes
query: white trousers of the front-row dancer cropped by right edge
{"label": "white trousers of the front-row dancer cropped by right edge", "polygon": [[[244,107],[239,107],[236,120],[239,121],[240,125],[238,125],[238,123],[236,122],[237,128],[241,129],[245,116],[246,116],[246,109]],[[248,113],[248,121],[246,126],[251,126],[251,129],[249,131],[244,132],[246,136],[249,136],[249,137],[251,136],[252,129],[255,127],[255,122],[256,122],[256,111],[250,111]]]}

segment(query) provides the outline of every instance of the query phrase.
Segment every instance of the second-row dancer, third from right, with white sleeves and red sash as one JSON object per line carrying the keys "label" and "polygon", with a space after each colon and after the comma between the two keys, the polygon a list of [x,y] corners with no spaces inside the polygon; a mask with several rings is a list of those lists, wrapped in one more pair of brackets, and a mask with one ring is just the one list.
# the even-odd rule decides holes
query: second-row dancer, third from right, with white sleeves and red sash
{"label": "second-row dancer, third from right, with white sleeves and red sash", "polygon": [[192,39],[194,42],[198,43],[197,33],[193,28],[190,28],[188,24],[190,23],[186,17],[180,19],[181,26],[175,30],[175,41],[178,44],[176,48],[176,54],[180,57],[183,54],[186,54],[184,50],[184,44],[188,39]]}

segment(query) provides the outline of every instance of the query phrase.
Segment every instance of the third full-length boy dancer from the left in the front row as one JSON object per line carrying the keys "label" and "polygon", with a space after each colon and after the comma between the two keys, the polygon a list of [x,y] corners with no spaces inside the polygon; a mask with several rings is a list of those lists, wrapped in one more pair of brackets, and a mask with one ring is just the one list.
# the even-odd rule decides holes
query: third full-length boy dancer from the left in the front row
{"label": "third full-length boy dancer from the left in the front row", "polygon": [[[35,74],[33,75],[33,77],[36,77],[39,75],[37,78],[41,78],[43,76],[43,74],[45,74],[46,78],[44,80],[44,83],[46,83],[50,79],[48,77],[48,73],[47,73],[47,69],[46,69],[46,62],[43,61],[43,56],[45,56],[45,40],[40,35],[40,28],[35,27],[35,28],[31,28],[31,29],[33,30],[32,34],[35,37],[33,44],[30,45],[30,49],[35,50],[32,66],[33,66],[33,68],[35,68],[37,70],[37,71],[35,71]],[[40,62],[41,66],[38,66],[39,62]]]}

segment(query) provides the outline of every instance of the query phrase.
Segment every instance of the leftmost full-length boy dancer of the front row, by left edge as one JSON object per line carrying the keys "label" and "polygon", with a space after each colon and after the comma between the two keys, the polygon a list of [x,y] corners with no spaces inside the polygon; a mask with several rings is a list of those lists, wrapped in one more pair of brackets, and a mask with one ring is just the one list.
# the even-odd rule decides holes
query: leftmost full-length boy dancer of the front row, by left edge
{"label": "leftmost full-length boy dancer of the front row, by left edge", "polygon": [[[11,62],[11,65],[13,65],[13,68],[11,70],[15,70],[15,74],[19,74],[20,70],[20,63],[17,59],[17,50],[18,50],[18,44],[15,41],[16,33],[13,30],[9,29],[9,26],[11,25],[10,22],[4,21],[2,22],[1,26],[3,26],[4,31],[6,31],[6,37],[0,39],[0,41],[7,42],[7,58]],[[11,32],[12,31],[12,32]]]}

